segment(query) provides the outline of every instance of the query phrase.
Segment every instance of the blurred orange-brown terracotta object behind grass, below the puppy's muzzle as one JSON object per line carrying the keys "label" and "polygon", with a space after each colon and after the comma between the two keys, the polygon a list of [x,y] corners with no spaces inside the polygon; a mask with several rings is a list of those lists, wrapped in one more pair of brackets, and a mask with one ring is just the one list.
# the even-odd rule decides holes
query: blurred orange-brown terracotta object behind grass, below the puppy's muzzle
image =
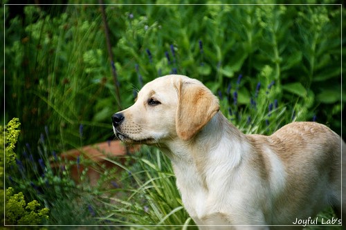
{"label": "blurred orange-brown terracotta object behind grass, below the puppy's muzzle", "polygon": [[[110,141],[110,142],[102,142],[97,144],[91,144],[88,146],[83,146],[81,148],[71,149],[69,151],[66,151],[65,153],[62,153],[60,157],[62,158],[62,162],[64,160],[72,160],[77,161],[78,156],[82,155],[84,160],[91,160],[93,162],[98,163],[99,165],[103,164],[106,166],[106,169],[111,169],[116,167],[116,173],[119,173],[122,169],[119,166],[116,166],[116,164],[113,164],[104,158],[113,158],[119,157],[116,159],[120,164],[124,163],[124,159],[122,159],[120,156],[126,155],[127,153],[134,153],[135,151],[138,151],[140,148],[140,145],[134,145],[134,146],[125,146],[122,142],[118,140]],[[52,164],[53,167],[57,168],[62,165],[57,166],[57,164]],[[102,171],[95,170],[94,167],[91,166],[85,166],[80,162],[80,164],[73,164],[73,166],[70,167],[69,171],[71,173],[71,178],[75,180],[75,182],[80,182],[80,174],[85,169],[85,167],[88,167],[88,171],[86,173],[87,177],[89,178],[89,182],[91,185],[95,185],[98,182],[98,179],[100,178]],[[118,182],[116,182],[118,184]]]}

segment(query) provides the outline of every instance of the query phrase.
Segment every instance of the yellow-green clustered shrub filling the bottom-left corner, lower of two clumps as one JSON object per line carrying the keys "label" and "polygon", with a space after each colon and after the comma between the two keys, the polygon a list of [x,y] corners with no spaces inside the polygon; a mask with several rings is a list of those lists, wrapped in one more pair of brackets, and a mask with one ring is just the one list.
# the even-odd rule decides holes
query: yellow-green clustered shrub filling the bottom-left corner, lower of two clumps
{"label": "yellow-green clustered shrub filling the bottom-left corner, lower of two clumps", "polygon": [[37,225],[48,219],[49,209],[39,209],[41,204],[33,200],[26,204],[23,193],[14,194],[11,187],[6,189],[6,224]]}

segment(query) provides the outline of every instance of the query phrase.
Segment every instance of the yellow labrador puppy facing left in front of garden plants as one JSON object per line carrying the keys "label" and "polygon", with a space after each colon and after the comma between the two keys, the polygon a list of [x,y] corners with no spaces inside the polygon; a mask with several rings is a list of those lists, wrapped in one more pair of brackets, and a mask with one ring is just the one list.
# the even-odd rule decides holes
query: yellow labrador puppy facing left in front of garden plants
{"label": "yellow labrador puppy facing left in front of garden plants", "polygon": [[244,135],[206,86],[183,75],[149,82],[112,121],[123,142],[157,144],[170,157],[200,229],[317,224],[329,205],[341,213],[343,141],[327,126],[293,122],[271,136]]}

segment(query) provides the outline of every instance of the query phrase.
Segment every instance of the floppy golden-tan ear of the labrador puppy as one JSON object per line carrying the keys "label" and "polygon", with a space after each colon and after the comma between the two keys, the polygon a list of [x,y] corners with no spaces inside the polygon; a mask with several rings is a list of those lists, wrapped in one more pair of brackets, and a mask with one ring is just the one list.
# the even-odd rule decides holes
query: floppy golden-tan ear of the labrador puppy
{"label": "floppy golden-tan ear of the labrador puppy", "polygon": [[219,99],[201,82],[178,83],[176,133],[182,140],[190,140],[219,111]]}

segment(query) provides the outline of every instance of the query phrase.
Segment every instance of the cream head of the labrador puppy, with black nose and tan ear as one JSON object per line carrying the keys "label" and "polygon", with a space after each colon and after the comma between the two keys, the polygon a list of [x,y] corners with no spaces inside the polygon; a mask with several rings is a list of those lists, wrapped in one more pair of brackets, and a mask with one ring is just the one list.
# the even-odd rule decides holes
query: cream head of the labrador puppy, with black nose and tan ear
{"label": "cream head of the labrador puppy, with black nose and tan ear", "polygon": [[155,144],[191,140],[219,111],[219,100],[197,79],[167,75],[149,82],[134,105],[112,116],[123,142]]}

